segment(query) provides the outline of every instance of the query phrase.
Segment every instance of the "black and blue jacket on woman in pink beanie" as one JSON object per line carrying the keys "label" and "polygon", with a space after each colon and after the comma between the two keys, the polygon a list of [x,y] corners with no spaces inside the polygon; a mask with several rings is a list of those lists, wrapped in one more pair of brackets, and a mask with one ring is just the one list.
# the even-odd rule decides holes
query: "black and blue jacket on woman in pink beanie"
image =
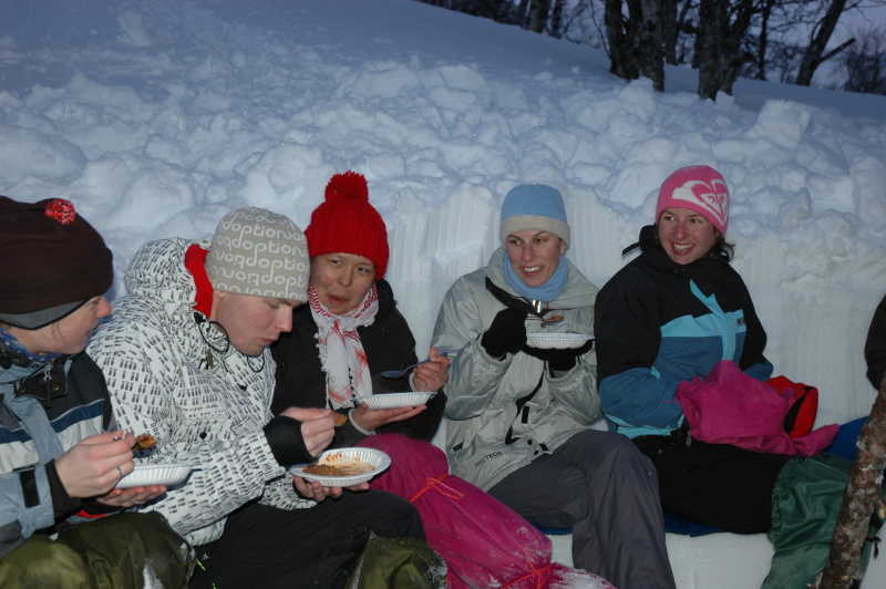
{"label": "black and blue jacket on woman in pink beanie", "polygon": [[595,312],[600,403],[629,437],[680,427],[677,386],[721,360],[761,381],[772,373],[766,333],[739,273],[711,257],[676,264],[652,236],[645,227],[642,252],[600,290]]}

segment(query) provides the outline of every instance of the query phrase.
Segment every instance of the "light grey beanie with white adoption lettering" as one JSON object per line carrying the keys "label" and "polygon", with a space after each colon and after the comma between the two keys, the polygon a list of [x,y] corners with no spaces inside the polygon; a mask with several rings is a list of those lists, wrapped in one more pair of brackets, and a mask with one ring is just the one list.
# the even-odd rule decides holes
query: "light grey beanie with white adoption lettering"
{"label": "light grey beanie with white adoption lettering", "polygon": [[228,213],[215,230],[206,276],[225,292],[308,300],[305,235],[288,217],[264,208]]}

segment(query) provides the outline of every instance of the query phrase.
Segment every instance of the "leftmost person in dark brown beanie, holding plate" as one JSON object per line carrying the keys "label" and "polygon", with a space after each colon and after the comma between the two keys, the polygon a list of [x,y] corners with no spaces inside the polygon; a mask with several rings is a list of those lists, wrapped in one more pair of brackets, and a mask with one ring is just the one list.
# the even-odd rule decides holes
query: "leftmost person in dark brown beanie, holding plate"
{"label": "leftmost person in dark brown beanie, holding plate", "polygon": [[185,587],[194,555],[165,519],[116,515],[166,487],[116,488],[135,436],[83,351],[111,312],[111,250],[69,200],[0,196],[0,586],[134,587],[156,564]]}

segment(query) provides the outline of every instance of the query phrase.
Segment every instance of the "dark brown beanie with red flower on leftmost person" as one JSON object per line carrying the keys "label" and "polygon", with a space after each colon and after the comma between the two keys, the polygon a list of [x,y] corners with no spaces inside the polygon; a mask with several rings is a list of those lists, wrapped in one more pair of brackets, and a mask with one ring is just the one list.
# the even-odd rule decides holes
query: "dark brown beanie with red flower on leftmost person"
{"label": "dark brown beanie with red flower on leftmost person", "polygon": [[104,294],[114,279],[102,236],[62,198],[0,196],[0,321],[39,329]]}

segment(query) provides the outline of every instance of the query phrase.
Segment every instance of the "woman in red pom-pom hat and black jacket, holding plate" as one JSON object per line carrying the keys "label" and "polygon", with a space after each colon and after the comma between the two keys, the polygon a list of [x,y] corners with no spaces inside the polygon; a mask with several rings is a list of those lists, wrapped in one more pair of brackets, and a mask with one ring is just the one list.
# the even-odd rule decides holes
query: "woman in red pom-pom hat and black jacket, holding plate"
{"label": "woman in red pom-pom hat and black jacket, holding plate", "polygon": [[[340,426],[331,447],[353,445],[377,433],[431,440],[445,406],[450,360],[431,360],[400,379],[379,372],[418,361],[415,339],[384,273],[389,246],[384,220],[369,203],[365,177],[332,176],[326,199],[305,229],[311,259],[308,304],[296,308],[292,331],[271,348],[277,361],[271,410],[331,407]],[[435,393],[418,406],[370,409],[354,397],[390,392]]]}

